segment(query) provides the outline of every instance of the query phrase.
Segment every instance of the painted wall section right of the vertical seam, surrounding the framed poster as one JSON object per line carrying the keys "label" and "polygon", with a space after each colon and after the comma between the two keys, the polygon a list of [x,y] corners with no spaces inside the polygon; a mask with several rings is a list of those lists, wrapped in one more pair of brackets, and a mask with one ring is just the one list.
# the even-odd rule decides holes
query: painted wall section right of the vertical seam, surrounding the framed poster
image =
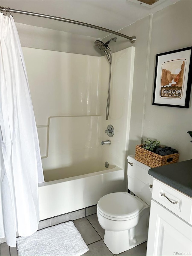
{"label": "painted wall section right of the vertical seam, surrounding the framed poster", "polygon": [[[153,106],[156,54],[192,46],[192,1],[179,1],[153,15],[149,77],[143,136],[157,138],[180,152],[179,161],[192,158],[192,92],[188,109]],[[190,71],[192,72],[192,71]]]}

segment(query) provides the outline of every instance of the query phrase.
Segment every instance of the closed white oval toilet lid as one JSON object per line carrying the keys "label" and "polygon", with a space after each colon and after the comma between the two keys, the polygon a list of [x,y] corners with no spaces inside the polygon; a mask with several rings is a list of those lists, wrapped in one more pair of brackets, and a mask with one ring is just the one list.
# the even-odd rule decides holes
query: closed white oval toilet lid
{"label": "closed white oval toilet lid", "polygon": [[113,218],[130,218],[139,214],[144,205],[126,192],[107,194],[98,201],[100,212]]}

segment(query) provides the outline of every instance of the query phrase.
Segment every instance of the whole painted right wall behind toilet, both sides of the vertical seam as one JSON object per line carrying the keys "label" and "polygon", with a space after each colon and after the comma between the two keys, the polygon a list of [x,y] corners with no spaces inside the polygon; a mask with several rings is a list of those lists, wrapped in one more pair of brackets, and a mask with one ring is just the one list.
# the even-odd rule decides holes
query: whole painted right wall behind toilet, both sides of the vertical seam
{"label": "whole painted right wall behind toilet, both sides of the vertical seam", "polygon": [[[156,54],[191,46],[191,17],[192,1],[182,0],[119,31],[137,38],[128,154],[134,154],[135,145],[149,137],[178,149],[179,161],[192,158],[192,143],[186,133],[192,129],[192,93],[189,109],[152,105]],[[116,52],[127,44],[118,37],[110,46]]]}

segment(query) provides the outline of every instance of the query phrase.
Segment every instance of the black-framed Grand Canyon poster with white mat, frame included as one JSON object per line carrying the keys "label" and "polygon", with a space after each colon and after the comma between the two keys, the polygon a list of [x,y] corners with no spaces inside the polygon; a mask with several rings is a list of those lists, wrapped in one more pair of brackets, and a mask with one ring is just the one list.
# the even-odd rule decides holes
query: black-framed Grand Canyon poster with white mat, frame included
{"label": "black-framed Grand Canyon poster with white mat, frame included", "polygon": [[192,47],[156,56],[153,105],[189,108]]}

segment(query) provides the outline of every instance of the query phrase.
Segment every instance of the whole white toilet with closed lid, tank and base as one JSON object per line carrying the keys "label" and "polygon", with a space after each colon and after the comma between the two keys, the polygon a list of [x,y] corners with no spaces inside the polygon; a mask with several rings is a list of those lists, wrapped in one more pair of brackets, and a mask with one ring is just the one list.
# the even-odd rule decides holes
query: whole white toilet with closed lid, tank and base
{"label": "whole white toilet with closed lid, tank and base", "polygon": [[147,241],[153,177],[150,167],[128,156],[127,192],[107,194],[98,201],[97,216],[105,230],[104,242],[113,254]]}

